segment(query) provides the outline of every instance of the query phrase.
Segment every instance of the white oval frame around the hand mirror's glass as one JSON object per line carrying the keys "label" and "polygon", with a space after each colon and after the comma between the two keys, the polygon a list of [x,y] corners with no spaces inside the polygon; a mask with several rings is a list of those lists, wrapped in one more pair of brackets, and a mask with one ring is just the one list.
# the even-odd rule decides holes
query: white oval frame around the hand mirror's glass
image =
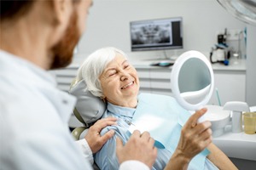
{"label": "white oval frame around the hand mirror's glass", "polygon": [[[207,94],[207,96],[201,100],[201,102],[196,104],[190,104],[185,99],[182,98],[179,87],[178,87],[178,76],[179,72],[183,66],[183,63],[186,62],[188,59],[201,59],[203,63],[207,65],[208,71],[210,72],[211,76],[211,87],[210,91]],[[174,94],[175,99],[177,99],[177,102],[183,106],[183,108],[187,109],[188,111],[197,111],[202,108],[202,106],[207,105],[209,100],[212,97],[212,92],[214,88],[214,75],[212,71],[212,65],[207,59],[207,57],[204,54],[201,54],[198,51],[191,50],[188,52],[185,52],[181,54],[175,61],[174,65],[172,66],[172,73],[171,73],[171,89],[172,94]]]}

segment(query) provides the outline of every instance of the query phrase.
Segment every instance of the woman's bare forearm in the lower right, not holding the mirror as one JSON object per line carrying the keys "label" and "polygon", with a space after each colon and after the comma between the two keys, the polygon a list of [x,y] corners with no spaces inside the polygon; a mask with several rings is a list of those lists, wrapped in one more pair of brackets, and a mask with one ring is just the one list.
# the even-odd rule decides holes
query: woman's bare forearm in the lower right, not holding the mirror
{"label": "woman's bare forearm in the lower right, not holding the mirror", "polygon": [[229,157],[224,154],[222,150],[219,150],[215,144],[209,144],[207,147],[211,151],[211,154],[207,158],[219,169],[237,169],[237,167],[230,161]]}

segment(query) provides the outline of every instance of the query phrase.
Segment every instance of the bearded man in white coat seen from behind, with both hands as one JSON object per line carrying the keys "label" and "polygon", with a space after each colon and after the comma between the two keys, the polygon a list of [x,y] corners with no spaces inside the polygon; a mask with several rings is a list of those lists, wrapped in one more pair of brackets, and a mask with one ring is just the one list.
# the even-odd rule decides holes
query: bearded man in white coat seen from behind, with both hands
{"label": "bearded man in white coat seen from behind, with both hands", "polygon": [[[90,128],[78,142],[83,154],[67,126],[76,99],[57,89],[47,72],[71,63],[92,1],[0,3],[0,169],[92,169],[92,153],[113,136],[99,133],[116,119]],[[152,166],[156,149],[148,138],[136,132],[119,147],[120,169]]]}

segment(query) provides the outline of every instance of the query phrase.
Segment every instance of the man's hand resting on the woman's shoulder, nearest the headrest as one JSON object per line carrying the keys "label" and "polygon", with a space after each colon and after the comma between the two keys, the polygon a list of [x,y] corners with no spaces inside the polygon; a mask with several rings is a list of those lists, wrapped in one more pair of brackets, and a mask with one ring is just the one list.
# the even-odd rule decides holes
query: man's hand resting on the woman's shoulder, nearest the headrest
{"label": "man's hand resting on the woman's shoulder, nearest the headrest", "polygon": [[89,128],[84,139],[86,139],[87,143],[89,144],[92,153],[96,153],[98,150],[100,150],[102,145],[105,144],[108,139],[113,137],[113,130],[108,131],[108,133],[105,133],[103,136],[101,136],[100,133],[102,128],[116,124],[116,120],[117,119],[115,117],[103,118],[98,120]]}

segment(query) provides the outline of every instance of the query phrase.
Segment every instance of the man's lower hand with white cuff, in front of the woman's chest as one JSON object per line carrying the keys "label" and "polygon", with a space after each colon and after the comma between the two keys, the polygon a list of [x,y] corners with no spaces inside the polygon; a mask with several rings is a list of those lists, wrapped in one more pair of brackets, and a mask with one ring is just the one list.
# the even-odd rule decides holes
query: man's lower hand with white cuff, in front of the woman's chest
{"label": "man's lower hand with white cuff, in front of the woman's chest", "polygon": [[151,169],[157,156],[157,149],[154,147],[154,139],[150,137],[148,132],[141,134],[136,130],[125,146],[117,138],[116,154],[120,164],[124,161],[137,160],[142,161]]}

